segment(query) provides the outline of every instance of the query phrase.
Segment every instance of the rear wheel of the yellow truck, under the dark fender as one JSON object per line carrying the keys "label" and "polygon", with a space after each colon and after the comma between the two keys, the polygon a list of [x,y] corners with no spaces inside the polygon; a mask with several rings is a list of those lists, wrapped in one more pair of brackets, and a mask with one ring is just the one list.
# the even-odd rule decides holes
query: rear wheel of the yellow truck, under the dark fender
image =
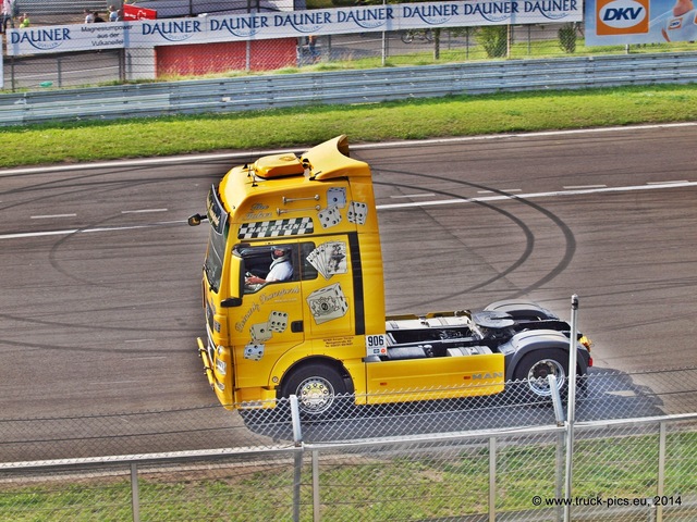
{"label": "rear wheel of the yellow truck, under the dark fender", "polygon": [[526,399],[549,402],[552,400],[552,389],[547,376],[557,377],[557,386],[563,398],[568,393],[568,361],[565,352],[555,349],[536,350],[518,362],[513,372],[513,378],[518,382],[522,395]]}

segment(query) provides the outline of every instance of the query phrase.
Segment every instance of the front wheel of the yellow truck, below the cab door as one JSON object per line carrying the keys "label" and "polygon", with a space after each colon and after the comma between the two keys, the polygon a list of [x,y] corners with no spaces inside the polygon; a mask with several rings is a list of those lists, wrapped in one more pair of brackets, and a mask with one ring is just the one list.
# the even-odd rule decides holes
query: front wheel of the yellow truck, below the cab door
{"label": "front wheel of the yellow truck, below the cab door", "polygon": [[301,415],[305,419],[337,414],[346,394],[346,383],[341,374],[333,366],[318,362],[294,370],[281,387],[283,397],[297,397]]}

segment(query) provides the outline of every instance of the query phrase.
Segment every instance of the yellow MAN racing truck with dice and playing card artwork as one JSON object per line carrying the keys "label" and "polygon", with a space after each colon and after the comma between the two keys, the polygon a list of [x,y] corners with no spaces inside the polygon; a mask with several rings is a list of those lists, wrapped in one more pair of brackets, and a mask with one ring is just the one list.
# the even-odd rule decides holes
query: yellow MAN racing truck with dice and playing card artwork
{"label": "yellow MAN racing truck with dice and playing card artwork", "polygon": [[[320,418],[340,397],[403,402],[503,391],[564,391],[571,327],[530,302],[482,310],[386,315],[370,167],[345,136],[302,156],[233,167],[208,192],[203,273],[206,336],[198,339],[220,402],[272,408],[295,395]],[[576,373],[591,365],[575,334]]]}

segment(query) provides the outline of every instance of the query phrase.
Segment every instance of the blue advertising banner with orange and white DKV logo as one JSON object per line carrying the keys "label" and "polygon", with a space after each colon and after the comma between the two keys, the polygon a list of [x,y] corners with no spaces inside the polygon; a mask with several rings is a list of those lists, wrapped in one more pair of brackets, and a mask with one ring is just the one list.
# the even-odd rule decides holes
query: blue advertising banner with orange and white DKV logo
{"label": "blue advertising banner with orange and white DKV logo", "polygon": [[587,0],[586,45],[659,44],[697,39],[693,0]]}

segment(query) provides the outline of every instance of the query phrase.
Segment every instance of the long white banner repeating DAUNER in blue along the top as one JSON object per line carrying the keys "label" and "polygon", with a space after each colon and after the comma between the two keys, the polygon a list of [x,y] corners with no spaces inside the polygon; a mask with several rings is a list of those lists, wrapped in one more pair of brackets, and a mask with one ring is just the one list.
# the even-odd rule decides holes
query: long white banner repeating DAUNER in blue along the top
{"label": "long white banner repeating DAUNER in blue along the top", "polygon": [[473,0],[106,24],[8,32],[8,54],[338,35],[437,27],[580,22],[582,0]]}

